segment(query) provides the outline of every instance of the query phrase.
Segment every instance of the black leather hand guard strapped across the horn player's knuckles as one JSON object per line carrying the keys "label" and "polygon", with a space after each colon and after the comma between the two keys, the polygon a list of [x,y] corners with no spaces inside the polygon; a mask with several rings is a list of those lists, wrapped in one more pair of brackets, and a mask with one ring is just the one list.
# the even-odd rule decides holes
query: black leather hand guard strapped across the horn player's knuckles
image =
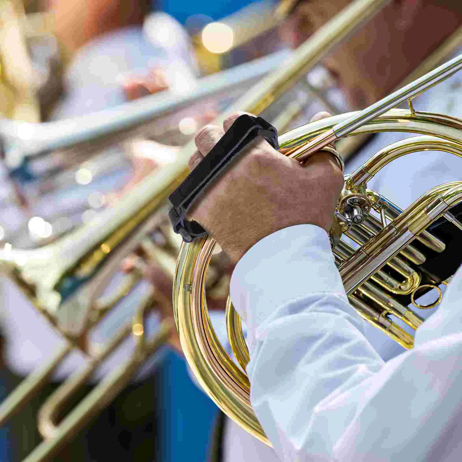
{"label": "black leather hand guard strapped across the horn player's knuckles", "polygon": [[170,194],[169,200],[173,206],[169,212],[170,223],[173,230],[177,234],[181,234],[184,242],[192,242],[196,237],[207,234],[207,231],[199,223],[185,219],[188,209],[211,182],[258,135],[267,140],[274,149],[279,148],[276,128],[261,117],[252,117],[247,114],[239,116],[207,156]]}

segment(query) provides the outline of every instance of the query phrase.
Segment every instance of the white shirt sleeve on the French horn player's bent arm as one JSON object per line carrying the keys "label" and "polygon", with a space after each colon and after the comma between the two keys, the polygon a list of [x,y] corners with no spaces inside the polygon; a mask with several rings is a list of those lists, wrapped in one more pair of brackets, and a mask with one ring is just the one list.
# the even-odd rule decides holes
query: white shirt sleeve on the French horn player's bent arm
{"label": "white shirt sleeve on the French horn player's bent arm", "polygon": [[279,456],[460,460],[461,294],[459,270],[414,349],[384,363],[347,302],[324,230],[292,226],[249,249],[231,298],[247,318],[252,406]]}

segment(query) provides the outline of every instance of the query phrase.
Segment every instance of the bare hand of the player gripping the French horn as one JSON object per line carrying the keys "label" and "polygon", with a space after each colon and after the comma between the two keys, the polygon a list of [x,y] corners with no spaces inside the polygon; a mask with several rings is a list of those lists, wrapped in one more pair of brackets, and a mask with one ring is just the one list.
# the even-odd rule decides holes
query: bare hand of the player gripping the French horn
{"label": "bare hand of the player gripping the French horn", "polygon": [[[223,128],[207,125],[199,130],[191,170],[240,115],[226,119]],[[313,120],[326,116],[320,113]],[[302,165],[259,137],[207,189],[189,216],[238,260],[260,239],[288,226],[312,224],[328,232],[343,184],[343,174],[328,153],[317,152]]]}

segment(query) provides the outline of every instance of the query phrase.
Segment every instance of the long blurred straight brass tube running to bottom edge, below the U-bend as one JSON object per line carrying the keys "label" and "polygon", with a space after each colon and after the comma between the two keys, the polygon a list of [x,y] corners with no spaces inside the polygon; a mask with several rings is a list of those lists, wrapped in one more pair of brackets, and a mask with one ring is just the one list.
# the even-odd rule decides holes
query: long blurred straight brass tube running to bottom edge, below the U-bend
{"label": "long blurred straight brass tube running to bottom edge, below the U-bend", "polygon": [[134,354],[130,359],[104,378],[79,405],[60,423],[54,437],[40,443],[23,462],[43,462],[54,460],[53,456],[62,444],[81,430],[86,423],[106,407],[116,395],[126,386],[134,371],[148,357],[168,340],[173,325],[163,321],[158,332],[146,342],[140,354]]}

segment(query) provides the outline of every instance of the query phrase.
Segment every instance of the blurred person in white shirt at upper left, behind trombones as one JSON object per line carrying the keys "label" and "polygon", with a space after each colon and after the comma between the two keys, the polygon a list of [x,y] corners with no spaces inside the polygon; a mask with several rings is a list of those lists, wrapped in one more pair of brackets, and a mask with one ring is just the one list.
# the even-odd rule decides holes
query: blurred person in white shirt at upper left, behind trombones
{"label": "blurred person in white shirt at upper left, behind trombones", "polygon": [[[81,116],[170,87],[187,91],[197,67],[186,32],[151,0],[49,0],[56,35],[71,56],[52,118]],[[149,20],[143,22],[148,17]]]}

